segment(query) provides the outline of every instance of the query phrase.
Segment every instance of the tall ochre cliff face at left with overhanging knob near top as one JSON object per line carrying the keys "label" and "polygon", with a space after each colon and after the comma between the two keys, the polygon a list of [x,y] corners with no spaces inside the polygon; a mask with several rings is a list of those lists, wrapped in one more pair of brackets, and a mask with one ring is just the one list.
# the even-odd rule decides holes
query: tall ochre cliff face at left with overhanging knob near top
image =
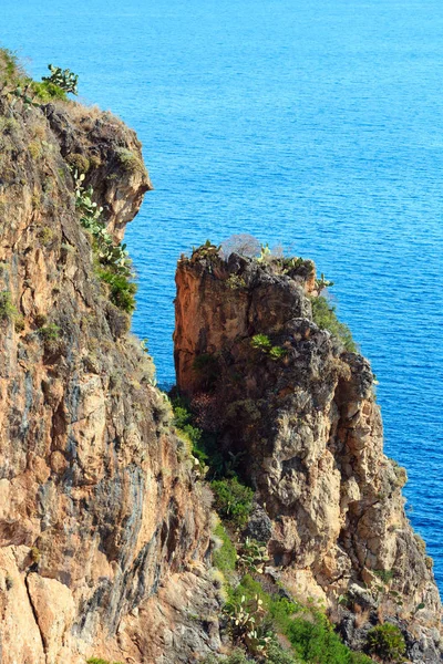
{"label": "tall ochre cliff face at left with overhanging knob near top", "polygon": [[69,168],[121,238],[150,188],[141,145],[109,113],[4,90],[0,145],[0,661],[190,662],[218,643],[184,627],[217,609],[209,510]]}

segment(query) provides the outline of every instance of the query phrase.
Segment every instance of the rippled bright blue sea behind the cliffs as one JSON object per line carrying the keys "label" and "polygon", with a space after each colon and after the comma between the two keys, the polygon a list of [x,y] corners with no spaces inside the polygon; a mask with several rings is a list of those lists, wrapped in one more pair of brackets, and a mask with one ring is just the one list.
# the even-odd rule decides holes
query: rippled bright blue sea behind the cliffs
{"label": "rippled bright blue sea behind the cliffs", "polygon": [[[80,74],[144,144],[134,329],[174,382],[177,257],[250,232],[316,260],[372,362],[443,590],[441,0],[0,0],[0,42]],[[412,510],[412,511],[411,511]]]}

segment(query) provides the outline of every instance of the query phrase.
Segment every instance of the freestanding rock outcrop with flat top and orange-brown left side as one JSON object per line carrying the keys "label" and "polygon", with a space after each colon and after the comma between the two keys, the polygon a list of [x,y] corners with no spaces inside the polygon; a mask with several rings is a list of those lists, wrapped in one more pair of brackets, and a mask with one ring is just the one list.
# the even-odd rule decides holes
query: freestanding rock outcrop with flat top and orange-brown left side
{"label": "freestanding rock outcrop with flat top and orange-brown left side", "polygon": [[225,450],[244,454],[286,587],[323,600],[353,645],[356,611],[368,611],[408,631],[412,661],[440,661],[441,603],[404,513],[405,471],[383,454],[368,361],[313,322],[312,264],[225,261],[206,247],[176,282],[178,387],[207,404],[200,418]]}

